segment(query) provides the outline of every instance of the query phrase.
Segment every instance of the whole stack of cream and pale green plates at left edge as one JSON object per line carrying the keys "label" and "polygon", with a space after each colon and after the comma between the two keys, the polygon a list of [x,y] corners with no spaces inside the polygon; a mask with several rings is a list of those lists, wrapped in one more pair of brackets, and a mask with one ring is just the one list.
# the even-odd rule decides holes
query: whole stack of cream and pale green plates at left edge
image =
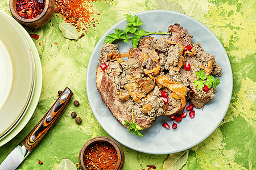
{"label": "whole stack of cream and pale green plates at left edge", "polygon": [[42,88],[38,51],[26,29],[0,11],[0,146],[30,120]]}

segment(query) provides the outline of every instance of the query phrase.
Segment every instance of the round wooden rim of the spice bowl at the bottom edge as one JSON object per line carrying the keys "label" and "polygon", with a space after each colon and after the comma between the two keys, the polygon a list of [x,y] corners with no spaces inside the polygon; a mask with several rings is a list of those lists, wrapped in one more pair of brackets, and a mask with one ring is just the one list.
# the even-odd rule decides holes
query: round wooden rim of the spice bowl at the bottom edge
{"label": "round wooden rim of the spice bowl at the bottom edge", "polygon": [[85,154],[86,150],[88,150],[88,148],[90,146],[92,146],[94,143],[97,143],[97,142],[106,142],[106,143],[109,143],[110,145],[112,145],[114,147],[115,151],[117,152],[117,155],[120,155],[120,157],[118,156],[118,159],[120,161],[118,163],[118,160],[117,160],[118,164],[115,165],[114,170],[121,168],[122,167],[122,161],[123,161],[123,163],[125,161],[125,155],[123,154],[122,147],[119,145],[119,143],[117,143],[117,141],[115,141],[114,139],[109,138],[109,137],[95,137],[95,138],[89,139],[89,141],[87,141],[84,144],[84,146],[82,146],[82,148],[80,150],[80,153],[79,153],[79,164],[80,164],[80,167],[82,169],[84,169],[84,170],[88,169],[88,168],[85,167],[84,154]]}

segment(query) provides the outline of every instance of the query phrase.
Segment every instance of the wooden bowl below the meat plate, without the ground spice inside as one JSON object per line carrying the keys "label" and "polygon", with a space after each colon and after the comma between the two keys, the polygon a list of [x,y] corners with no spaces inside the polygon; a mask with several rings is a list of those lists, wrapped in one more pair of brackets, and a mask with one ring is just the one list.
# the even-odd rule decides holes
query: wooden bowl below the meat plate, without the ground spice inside
{"label": "wooden bowl below the meat plate, without the ground spice inside", "polygon": [[[125,164],[125,154],[123,154],[122,147],[119,145],[119,143],[117,143],[117,141],[115,141],[114,139],[108,138],[108,137],[92,138],[89,141],[87,141],[84,146],[82,146],[80,154],[79,154],[80,168],[83,170],[88,170],[88,168],[86,168],[86,165],[88,165],[88,164],[86,164],[86,161],[85,161],[86,160],[86,158],[85,158],[86,151],[89,151],[90,148],[93,146],[96,146],[96,147],[99,146],[100,145],[99,143],[101,143],[101,144],[106,143],[106,145],[112,146],[114,148],[114,150],[116,151],[117,163],[115,163],[114,169],[108,169],[108,170],[122,170],[123,165]],[[99,156],[97,158],[99,158]]]}

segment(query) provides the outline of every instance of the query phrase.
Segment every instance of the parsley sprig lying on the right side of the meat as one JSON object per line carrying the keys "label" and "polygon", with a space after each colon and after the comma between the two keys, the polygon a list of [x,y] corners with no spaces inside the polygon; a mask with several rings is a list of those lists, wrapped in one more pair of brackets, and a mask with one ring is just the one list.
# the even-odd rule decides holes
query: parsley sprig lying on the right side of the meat
{"label": "parsley sprig lying on the right side of the meat", "polygon": [[216,88],[218,84],[220,84],[220,79],[217,78],[214,80],[214,76],[212,75],[204,75],[204,71],[200,70],[199,72],[195,72],[197,79],[193,80],[194,86],[196,86],[199,90],[203,90],[204,86],[206,85],[208,88],[214,87]]}

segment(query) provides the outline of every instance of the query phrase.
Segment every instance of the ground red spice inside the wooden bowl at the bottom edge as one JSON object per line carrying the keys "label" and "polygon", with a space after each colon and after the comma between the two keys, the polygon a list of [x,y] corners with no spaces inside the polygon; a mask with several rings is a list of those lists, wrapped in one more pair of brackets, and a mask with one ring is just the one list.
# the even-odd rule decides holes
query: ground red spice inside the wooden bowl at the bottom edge
{"label": "ground red spice inside the wooden bowl at the bottom edge", "polygon": [[109,143],[97,142],[85,152],[84,160],[86,168],[90,170],[111,170],[117,164],[117,152]]}

